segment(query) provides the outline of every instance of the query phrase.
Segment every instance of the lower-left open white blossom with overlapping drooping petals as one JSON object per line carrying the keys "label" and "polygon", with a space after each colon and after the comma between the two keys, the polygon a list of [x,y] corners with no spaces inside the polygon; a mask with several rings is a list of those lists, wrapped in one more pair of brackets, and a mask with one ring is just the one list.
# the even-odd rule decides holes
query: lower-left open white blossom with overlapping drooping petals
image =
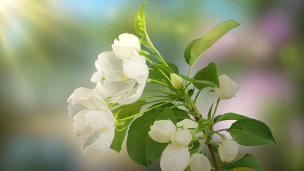
{"label": "lower-left open white blossom with overlapping drooping petals", "polygon": [[79,139],[85,139],[81,149],[85,154],[100,154],[109,149],[115,130],[115,119],[94,89],[77,88],[69,96],[68,110],[73,117],[73,129]]}

